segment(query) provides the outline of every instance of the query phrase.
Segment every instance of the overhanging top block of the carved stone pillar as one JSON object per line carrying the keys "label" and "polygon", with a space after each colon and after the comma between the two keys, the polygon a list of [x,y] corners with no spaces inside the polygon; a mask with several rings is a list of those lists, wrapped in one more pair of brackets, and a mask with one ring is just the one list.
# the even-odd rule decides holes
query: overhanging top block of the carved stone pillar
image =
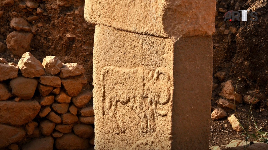
{"label": "overhanging top block of the carved stone pillar", "polygon": [[212,35],[215,6],[216,2],[211,0],[86,0],[84,16],[88,22],[132,33],[159,37]]}

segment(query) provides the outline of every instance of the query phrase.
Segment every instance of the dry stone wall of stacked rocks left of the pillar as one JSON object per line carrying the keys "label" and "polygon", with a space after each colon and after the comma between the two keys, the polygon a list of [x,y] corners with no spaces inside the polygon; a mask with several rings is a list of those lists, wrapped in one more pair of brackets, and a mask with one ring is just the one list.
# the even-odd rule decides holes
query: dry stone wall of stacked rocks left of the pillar
{"label": "dry stone wall of stacked rocks left of the pillar", "polygon": [[0,149],[75,150],[94,145],[92,92],[83,66],[31,53],[0,58]]}

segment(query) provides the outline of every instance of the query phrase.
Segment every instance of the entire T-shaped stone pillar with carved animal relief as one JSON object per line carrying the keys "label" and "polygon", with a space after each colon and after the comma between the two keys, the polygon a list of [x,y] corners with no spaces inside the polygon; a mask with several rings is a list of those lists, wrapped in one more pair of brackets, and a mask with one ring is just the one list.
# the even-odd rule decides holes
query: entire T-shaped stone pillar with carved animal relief
{"label": "entire T-shaped stone pillar with carved animal relief", "polygon": [[95,149],[209,149],[215,0],[86,0]]}

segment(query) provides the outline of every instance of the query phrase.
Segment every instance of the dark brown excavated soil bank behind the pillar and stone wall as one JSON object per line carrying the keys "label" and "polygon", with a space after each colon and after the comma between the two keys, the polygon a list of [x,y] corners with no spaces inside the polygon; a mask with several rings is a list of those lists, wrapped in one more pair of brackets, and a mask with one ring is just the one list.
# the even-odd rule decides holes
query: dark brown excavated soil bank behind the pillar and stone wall
{"label": "dark brown excavated soil bank behind the pillar and stone wall", "polygon": [[[40,0],[38,2],[45,6],[46,3],[52,3]],[[226,72],[224,81],[232,80],[235,87],[237,80],[241,79],[237,85],[237,92],[242,95],[251,94],[260,100],[252,107],[252,114],[258,128],[262,127],[264,131],[267,131],[268,4],[257,0],[237,0],[234,1],[234,4],[237,2],[239,2],[240,9],[258,12],[258,21],[235,23],[234,26],[237,27],[238,34],[221,33],[220,27],[228,21],[222,23],[224,13],[219,12],[218,9],[234,10],[235,5],[231,5],[230,0],[217,1],[218,15],[215,18],[216,32],[213,35],[213,75],[217,72]],[[48,15],[39,15],[37,21],[31,22],[32,26],[38,23],[43,24],[37,28],[31,42],[31,53],[40,62],[45,56],[53,55],[57,56],[63,63],[76,62],[83,65],[88,78],[88,84],[85,88],[92,90],[92,52],[95,25],[84,20],[83,0],[67,1],[67,3],[70,5],[55,8],[46,7],[44,10]],[[0,5],[0,10],[4,11],[0,19],[0,42],[3,43],[5,43],[7,35],[13,31],[9,25],[12,18],[27,19],[29,16],[36,15],[34,11],[21,11],[18,3],[12,7]],[[226,25],[224,27],[228,29]],[[75,35],[75,38],[67,38],[66,34],[68,33]],[[18,63],[20,59],[13,56],[9,50],[0,53],[0,57],[15,63]],[[211,112],[217,107],[216,101],[222,98],[219,96],[219,92],[221,92],[220,84],[224,81],[219,81],[213,77],[213,83],[219,86],[213,90]],[[259,112],[260,108],[265,110]],[[245,127],[251,127],[250,133],[256,133],[252,116],[248,118],[249,109],[247,104],[236,105],[237,115],[241,123]],[[228,116],[235,113],[233,110],[225,111]],[[226,125],[227,127],[225,127]],[[226,145],[233,139],[245,140],[245,135],[242,135],[244,132],[234,131],[227,118],[217,121],[211,120],[210,132],[210,146]]]}

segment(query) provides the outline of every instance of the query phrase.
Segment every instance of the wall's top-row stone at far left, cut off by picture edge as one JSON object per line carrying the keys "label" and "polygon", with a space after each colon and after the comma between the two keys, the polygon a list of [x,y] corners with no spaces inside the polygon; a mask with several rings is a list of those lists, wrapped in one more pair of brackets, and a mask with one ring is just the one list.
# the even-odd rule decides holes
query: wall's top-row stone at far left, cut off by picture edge
{"label": "wall's top-row stone at far left, cut off by picture edge", "polygon": [[6,64],[0,64],[0,81],[18,77],[18,67]]}

